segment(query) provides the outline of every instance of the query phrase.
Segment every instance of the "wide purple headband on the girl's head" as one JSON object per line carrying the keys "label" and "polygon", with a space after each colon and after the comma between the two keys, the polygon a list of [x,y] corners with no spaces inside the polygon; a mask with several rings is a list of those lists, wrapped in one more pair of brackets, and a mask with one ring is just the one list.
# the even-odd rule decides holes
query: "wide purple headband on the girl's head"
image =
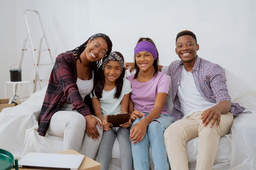
{"label": "wide purple headband on the girl's head", "polygon": [[136,59],[136,54],[141,52],[141,51],[147,51],[153,54],[154,60],[157,59],[157,49],[155,46],[148,41],[141,41],[139,42],[134,49],[134,57]]}

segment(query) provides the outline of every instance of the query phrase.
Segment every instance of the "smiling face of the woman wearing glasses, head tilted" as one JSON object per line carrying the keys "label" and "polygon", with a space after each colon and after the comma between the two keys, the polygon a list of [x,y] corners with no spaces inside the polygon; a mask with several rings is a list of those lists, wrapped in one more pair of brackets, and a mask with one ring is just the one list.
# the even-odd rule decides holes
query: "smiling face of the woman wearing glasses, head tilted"
{"label": "smiling face of the woman wearing glasses, head tilted", "polygon": [[[98,49],[99,48],[99,49]],[[98,50],[95,50],[98,49]],[[101,60],[101,52],[104,51],[105,53],[108,52],[108,44],[104,40],[104,38],[94,38],[93,40],[89,40],[86,44],[86,48],[84,50],[85,58],[89,62],[97,62]]]}

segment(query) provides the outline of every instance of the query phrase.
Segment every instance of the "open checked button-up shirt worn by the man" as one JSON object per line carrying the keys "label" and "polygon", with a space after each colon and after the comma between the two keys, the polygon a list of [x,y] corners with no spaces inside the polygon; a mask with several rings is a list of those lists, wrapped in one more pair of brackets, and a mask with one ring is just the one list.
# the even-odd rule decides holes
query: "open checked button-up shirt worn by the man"
{"label": "open checked button-up shirt worn by the man", "polygon": [[[181,111],[180,101],[177,96],[182,76],[182,61],[176,60],[169,66],[163,66],[161,71],[171,76],[171,84],[173,88],[172,116],[174,120],[177,121],[182,119],[182,116],[184,115]],[[225,71],[221,66],[197,57],[191,73],[195,80],[195,86],[204,99],[216,104],[222,100],[227,100],[231,103],[231,97],[229,96],[226,85]],[[245,110],[245,108],[238,103],[231,103],[229,112],[232,113],[233,116],[236,116],[243,113],[243,110]]]}

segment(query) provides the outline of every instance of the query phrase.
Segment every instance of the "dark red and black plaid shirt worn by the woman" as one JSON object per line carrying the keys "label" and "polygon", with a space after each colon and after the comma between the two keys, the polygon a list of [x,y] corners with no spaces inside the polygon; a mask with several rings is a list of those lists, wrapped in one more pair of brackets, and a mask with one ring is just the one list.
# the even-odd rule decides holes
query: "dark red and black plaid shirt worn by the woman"
{"label": "dark red and black plaid shirt worn by the woman", "polygon": [[83,116],[91,114],[78,91],[76,80],[76,60],[73,53],[66,52],[58,55],[38,119],[39,135],[45,136],[52,115],[61,110],[67,99],[73,105],[72,110],[77,110]]}

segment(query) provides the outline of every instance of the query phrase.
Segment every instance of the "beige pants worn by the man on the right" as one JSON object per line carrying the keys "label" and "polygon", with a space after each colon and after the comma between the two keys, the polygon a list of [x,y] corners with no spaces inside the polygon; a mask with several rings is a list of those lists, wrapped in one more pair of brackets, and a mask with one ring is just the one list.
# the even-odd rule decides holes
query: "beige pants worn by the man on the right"
{"label": "beige pants worn by the man on the right", "polygon": [[164,132],[166,152],[171,170],[189,170],[186,142],[199,136],[198,156],[195,170],[211,170],[218,150],[220,137],[228,134],[233,122],[231,113],[222,114],[220,124],[204,127],[200,119],[203,111],[171,124]]}

